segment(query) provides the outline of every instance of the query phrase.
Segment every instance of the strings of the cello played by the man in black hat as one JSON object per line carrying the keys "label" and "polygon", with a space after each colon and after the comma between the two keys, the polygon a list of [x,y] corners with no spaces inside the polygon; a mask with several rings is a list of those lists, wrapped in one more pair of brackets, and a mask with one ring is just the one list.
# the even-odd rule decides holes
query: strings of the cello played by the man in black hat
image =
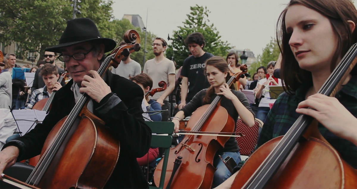
{"label": "strings of the cello played by the man in black hat", "polygon": [[[103,65],[107,65],[107,64],[109,63],[110,58],[112,58],[112,57],[114,57],[114,55],[107,56],[107,57],[106,57],[106,60],[103,62]],[[101,66],[101,67],[100,67],[99,73],[102,73],[103,70],[105,69],[105,68],[103,69],[102,67],[104,67],[104,66]],[[81,99],[80,99],[81,102],[80,102],[80,103],[77,103],[77,104],[81,104],[81,103],[83,103],[83,102],[85,101],[86,98],[83,98],[83,97],[84,97],[84,96],[82,96]],[[77,104],[76,104],[76,105],[77,105]],[[73,115],[72,112],[78,112],[79,106],[76,106],[76,105],[75,105],[75,107],[74,107],[74,111],[73,111],[73,110],[71,111],[71,115]],[[77,116],[77,114],[76,114],[76,116]],[[63,131],[67,131],[67,130],[68,130],[68,128],[67,128],[67,127],[69,127],[69,126],[67,126],[68,123],[73,122],[76,116],[74,116],[74,117],[69,117],[69,119],[67,118],[67,119],[65,120],[64,124],[62,124],[62,127],[60,128],[59,132],[56,133],[55,138],[52,140],[52,142],[50,143],[49,147],[46,149],[44,155],[42,155],[42,157],[40,158],[40,161],[39,161],[40,163],[38,163],[38,164],[36,165],[35,170],[31,173],[29,179],[31,178],[31,176],[33,175],[33,173],[37,172],[37,170],[38,170],[38,168],[40,167],[40,165],[42,164],[42,162],[43,162],[45,159],[48,159],[47,155],[48,155],[48,153],[49,153],[49,149],[50,149],[50,148],[53,148],[55,141],[58,141],[59,134],[62,133]],[[67,127],[66,127],[66,126],[67,126]],[[62,136],[63,136],[63,135],[62,135]],[[63,138],[63,137],[62,137],[62,138]],[[58,146],[58,143],[57,143],[57,146]],[[53,156],[53,153],[54,153],[54,152],[51,152],[51,155],[52,155],[52,156]],[[29,179],[28,179],[26,182],[28,182]]]}

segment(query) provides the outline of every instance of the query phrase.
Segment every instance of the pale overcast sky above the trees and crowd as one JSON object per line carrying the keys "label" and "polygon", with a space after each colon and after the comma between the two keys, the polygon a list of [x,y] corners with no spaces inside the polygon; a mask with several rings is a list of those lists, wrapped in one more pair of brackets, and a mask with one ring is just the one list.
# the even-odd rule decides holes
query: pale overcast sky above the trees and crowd
{"label": "pale overcast sky above the trees and crowd", "polygon": [[[147,30],[167,39],[190,13],[190,6],[207,6],[208,15],[222,36],[236,49],[249,48],[255,57],[275,36],[278,16],[289,0],[113,0],[114,16],[139,14]],[[144,36],[141,36],[144,37]]]}

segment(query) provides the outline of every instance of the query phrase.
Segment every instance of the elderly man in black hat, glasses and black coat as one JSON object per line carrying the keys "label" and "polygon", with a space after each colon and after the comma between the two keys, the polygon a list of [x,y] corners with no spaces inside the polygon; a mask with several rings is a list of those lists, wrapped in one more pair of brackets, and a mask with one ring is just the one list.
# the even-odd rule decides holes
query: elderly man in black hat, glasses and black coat
{"label": "elderly man in black hat, glasses and black coat", "polygon": [[39,155],[52,127],[70,113],[81,93],[87,93],[92,98],[88,109],[105,121],[121,144],[119,160],[105,188],[148,188],[136,161],[147,153],[151,141],[151,130],[142,117],[144,93],[139,85],[110,71],[103,79],[97,73],[104,53],[115,46],[114,40],[100,36],[90,19],[67,22],[59,45],[46,51],[60,53],[72,81],[55,94],[42,124],[5,144],[0,152],[0,174],[15,162]]}

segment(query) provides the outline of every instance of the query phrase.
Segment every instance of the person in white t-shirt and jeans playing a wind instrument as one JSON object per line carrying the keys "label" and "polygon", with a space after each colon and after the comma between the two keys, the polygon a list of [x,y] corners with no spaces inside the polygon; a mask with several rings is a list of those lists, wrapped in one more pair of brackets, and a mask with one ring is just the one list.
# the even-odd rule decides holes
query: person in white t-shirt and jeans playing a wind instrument
{"label": "person in white t-shirt and jeans playing a wind instrument", "polygon": [[[258,106],[258,112],[256,115],[257,119],[260,119],[262,122],[265,121],[269,111],[269,104],[273,104],[276,99],[270,99],[269,86],[282,86],[281,79],[274,78],[273,72],[276,61],[270,61],[267,65],[267,75],[266,78],[262,78],[258,83],[258,90],[256,93],[256,98],[262,97]],[[265,87],[267,86],[267,87]],[[261,128],[259,128],[259,133]]]}

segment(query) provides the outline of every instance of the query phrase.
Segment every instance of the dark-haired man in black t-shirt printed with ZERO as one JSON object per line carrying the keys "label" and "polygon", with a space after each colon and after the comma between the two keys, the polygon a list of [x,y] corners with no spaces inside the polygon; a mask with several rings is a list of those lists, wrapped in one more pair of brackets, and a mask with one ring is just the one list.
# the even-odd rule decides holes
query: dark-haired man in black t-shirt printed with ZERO
{"label": "dark-haired man in black t-shirt printed with ZERO", "polygon": [[178,109],[184,107],[202,89],[210,87],[203,68],[206,67],[205,61],[213,55],[203,51],[205,37],[199,32],[192,33],[185,39],[185,44],[188,45],[192,56],[183,62],[181,103],[178,105]]}

